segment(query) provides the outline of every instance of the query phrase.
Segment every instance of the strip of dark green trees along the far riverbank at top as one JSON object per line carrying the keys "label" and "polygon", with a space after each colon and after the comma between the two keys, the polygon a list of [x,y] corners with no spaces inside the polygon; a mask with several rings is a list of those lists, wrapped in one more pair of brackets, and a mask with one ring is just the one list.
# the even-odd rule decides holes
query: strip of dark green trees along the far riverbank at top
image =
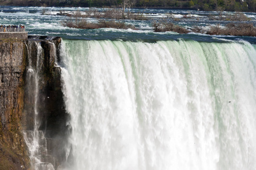
{"label": "strip of dark green trees along the far riverbank at top", "polygon": [[255,11],[256,0],[0,0],[0,5],[74,7],[165,7],[200,10]]}

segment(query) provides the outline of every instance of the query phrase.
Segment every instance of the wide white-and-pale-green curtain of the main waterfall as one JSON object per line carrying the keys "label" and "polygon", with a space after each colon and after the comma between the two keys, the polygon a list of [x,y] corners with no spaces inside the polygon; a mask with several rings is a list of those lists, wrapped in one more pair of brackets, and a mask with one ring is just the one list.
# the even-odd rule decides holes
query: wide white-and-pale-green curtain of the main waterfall
{"label": "wide white-and-pale-green curtain of the main waterfall", "polygon": [[61,51],[69,169],[256,168],[249,42],[65,40]]}

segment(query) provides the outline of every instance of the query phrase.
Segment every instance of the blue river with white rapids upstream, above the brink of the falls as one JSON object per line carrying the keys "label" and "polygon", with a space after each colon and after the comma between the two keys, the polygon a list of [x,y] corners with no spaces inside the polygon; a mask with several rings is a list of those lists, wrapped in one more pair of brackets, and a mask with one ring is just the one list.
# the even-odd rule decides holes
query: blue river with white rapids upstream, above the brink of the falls
{"label": "blue river with white rapids upstream, above the brink of the falls", "polygon": [[[49,14],[57,14],[62,11],[87,11],[89,8],[75,8],[75,7],[47,7]],[[106,9],[99,8],[100,11]],[[24,24],[29,35],[47,35],[47,36],[61,36],[65,39],[82,39],[82,40],[125,40],[125,41],[157,41],[157,40],[170,40],[170,39],[195,39],[198,41],[212,41],[212,36],[198,36],[198,35],[177,35],[177,33],[166,32],[156,33],[153,32],[153,23],[159,19],[166,18],[167,13],[174,14],[175,18],[181,18],[179,25],[186,28],[191,28],[194,25],[209,28],[211,25],[221,24],[225,25],[228,22],[220,22],[208,20],[208,15],[215,15],[217,12],[205,11],[192,11],[192,10],[168,10],[168,9],[147,9],[145,10],[146,16],[149,20],[125,20],[128,24],[135,25],[137,30],[122,30],[112,28],[101,29],[76,29],[63,27],[62,23],[68,20],[67,16],[60,15],[41,15],[43,7],[7,7],[0,6],[0,24]],[[142,9],[133,9],[133,12],[141,12]],[[191,19],[182,19],[183,15],[190,14],[194,17]],[[255,13],[245,13],[251,19],[250,22],[256,24]],[[199,18],[199,20],[197,20]],[[96,19],[87,18],[89,22],[97,22]],[[121,20],[124,21],[124,20]],[[217,36],[220,37],[220,36]],[[237,37],[225,36],[226,39],[237,39]],[[247,41],[254,42],[255,38],[251,40],[248,37],[239,37]]]}

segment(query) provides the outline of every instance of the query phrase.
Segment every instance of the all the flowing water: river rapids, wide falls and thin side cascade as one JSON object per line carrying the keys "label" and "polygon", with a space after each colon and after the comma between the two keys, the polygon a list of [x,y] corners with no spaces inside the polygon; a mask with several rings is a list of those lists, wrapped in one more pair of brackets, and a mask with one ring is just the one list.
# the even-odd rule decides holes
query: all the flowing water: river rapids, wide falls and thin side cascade
{"label": "all the flowing water: river rapids, wide falls and thin side cascade", "polygon": [[[208,19],[217,12],[148,9],[148,20],[121,20],[136,29],[76,29],[64,27],[69,17],[57,13],[89,8],[46,9],[48,15],[41,15],[43,7],[0,6],[0,24],[26,25],[29,35],[45,39],[62,37],[61,44],[50,43],[57,49],[53,67],[61,70],[62,108],[69,114],[62,121],[70,133],[60,137],[67,139],[59,146],[65,152],[60,167],[256,168],[255,37],[153,31],[167,13],[179,21],[166,20],[186,28],[228,23]],[[256,15],[245,15],[255,25]],[[31,58],[41,61],[46,50],[40,42],[33,45],[37,53]],[[42,82],[37,66],[32,70],[37,96]],[[45,139],[38,121],[29,147],[36,161],[40,154],[33,148]],[[50,169],[45,162],[37,164]]]}

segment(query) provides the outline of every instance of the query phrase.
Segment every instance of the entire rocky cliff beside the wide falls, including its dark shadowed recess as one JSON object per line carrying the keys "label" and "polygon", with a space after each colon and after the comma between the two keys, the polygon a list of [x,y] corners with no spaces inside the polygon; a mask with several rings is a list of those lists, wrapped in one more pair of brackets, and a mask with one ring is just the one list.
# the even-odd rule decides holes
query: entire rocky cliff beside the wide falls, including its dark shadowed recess
{"label": "entire rocky cliff beside the wide falls, including its dark shadowed recess", "polygon": [[65,160],[68,114],[56,65],[60,41],[0,41],[0,169],[33,169],[28,156],[35,130],[40,146],[33,156],[55,169]]}

